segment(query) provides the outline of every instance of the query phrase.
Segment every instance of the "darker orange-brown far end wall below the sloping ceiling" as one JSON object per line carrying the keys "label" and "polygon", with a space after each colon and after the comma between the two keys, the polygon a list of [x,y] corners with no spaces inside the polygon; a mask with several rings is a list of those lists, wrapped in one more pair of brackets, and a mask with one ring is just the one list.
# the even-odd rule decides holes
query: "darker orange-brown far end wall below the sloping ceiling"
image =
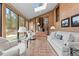
{"label": "darker orange-brown far end wall below the sloping ceiling", "polygon": [[[39,17],[48,18],[48,27],[49,27],[49,31],[50,31],[50,27],[54,26],[54,23],[55,23],[55,11],[48,12]],[[36,17],[36,20],[38,20],[39,17]],[[31,19],[31,20],[34,21],[35,19]]]}

